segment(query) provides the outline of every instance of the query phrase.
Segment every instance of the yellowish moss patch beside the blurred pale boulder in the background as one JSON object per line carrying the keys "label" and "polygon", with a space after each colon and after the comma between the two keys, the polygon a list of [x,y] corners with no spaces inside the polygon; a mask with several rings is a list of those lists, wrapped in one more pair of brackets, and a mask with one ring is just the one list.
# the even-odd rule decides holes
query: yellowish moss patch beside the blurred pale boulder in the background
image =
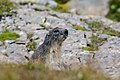
{"label": "yellowish moss patch beside the blurred pale boulder in the background", "polygon": [[58,12],[69,12],[71,7],[67,4],[58,4],[56,7],[53,7],[52,10]]}

